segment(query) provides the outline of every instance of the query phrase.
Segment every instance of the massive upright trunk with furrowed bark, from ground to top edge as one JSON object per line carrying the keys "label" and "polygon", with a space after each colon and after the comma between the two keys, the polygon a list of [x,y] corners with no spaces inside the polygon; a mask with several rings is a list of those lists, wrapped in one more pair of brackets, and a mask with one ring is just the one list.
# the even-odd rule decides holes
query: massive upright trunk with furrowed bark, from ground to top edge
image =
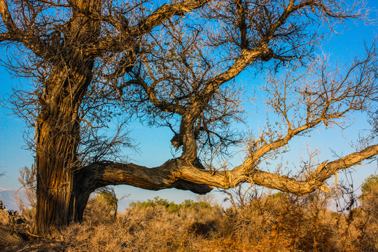
{"label": "massive upright trunk with furrowed bark, from ground to top edge", "polygon": [[81,221],[90,193],[83,185],[77,148],[80,140],[80,104],[92,81],[94,56],[83,45],[95,45],[99,20],[83,13],[99,13],[99,0],[73,1],[71,25],[65,31],[66,43],[55,50],[55,65],[43,83],[41,111],[36,127],[37,206],[36,232],[53,235],[72,221]]}

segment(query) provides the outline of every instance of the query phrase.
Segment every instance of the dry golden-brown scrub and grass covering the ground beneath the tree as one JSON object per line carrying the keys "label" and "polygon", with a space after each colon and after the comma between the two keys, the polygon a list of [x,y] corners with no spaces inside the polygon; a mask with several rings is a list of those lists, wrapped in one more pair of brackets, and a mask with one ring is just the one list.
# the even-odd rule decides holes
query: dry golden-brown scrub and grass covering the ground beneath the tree
{"label": "dry golden-brown scrub and grass covering the ground beneath the tree", "polygon": [[[378,186],[370,188],[360,207],[344,214],[327,210],[332,199],[324,193],[262,195],[225,211],[209,202],[155,199],[132,204],[116,219],[109,211],[101,216],[92,202],[97,207],[87,221],[62,230],[59,239],[15,241],[7,250],[378,251],[377,195]],[[1,213],[0,225],[13,225]]]}

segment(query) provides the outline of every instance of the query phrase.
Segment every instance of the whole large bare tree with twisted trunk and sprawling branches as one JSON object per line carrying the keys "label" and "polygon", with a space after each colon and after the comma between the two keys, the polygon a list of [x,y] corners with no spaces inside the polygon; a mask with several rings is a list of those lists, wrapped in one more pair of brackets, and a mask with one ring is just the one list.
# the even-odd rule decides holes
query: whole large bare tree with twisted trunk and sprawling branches
{"label": "whole large bare tree with twisted trunk and sprawling branches", "polygon": [[[152,1],[0,0],[0,41],[15,54],[6,64],[34,83],[12,102],[35,127],[29,144],[36,152],[36,232],[50,235],[81,221],[90,193],[103,186],[204,194],[251,183],[301,195],[325,189],[339,169],[377,155],[378,145],[370,144],[310,167],[302,180],[259,168],[293,137],[340,123],[377,100],[374,46],[346,70],[328,71],[325,61],[309,65],[323,38],[314,26],[366,20],[364,6],[344,6],[334,0],[187,0],[158,8]],[[275,71],[284,65],[297,71],[280,80]],[[241,90],[232,80],[245,69],[272,70],[267,105],[281,118],[278,130],[260,136],[230,130],[243,120]],[[125,124],[113,137],[101,132],[117,116],[169,127],[181,155],[153,168],[121,162],[119,148],[130,146]],[[244,162],[216,169],[216,157],[242,141]]]}

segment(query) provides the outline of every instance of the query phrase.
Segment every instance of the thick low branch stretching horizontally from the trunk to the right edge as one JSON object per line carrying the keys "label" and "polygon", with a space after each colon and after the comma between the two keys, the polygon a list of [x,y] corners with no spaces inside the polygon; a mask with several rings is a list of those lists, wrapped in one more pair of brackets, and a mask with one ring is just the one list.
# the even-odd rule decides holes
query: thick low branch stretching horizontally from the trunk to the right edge
{"label": "thick low branch stretching horizontally from the trunk to the right edge", "polygon": [[254,167],[235,167],[231,171],[212,172],[198,169],[181,159],[169,160],[160,167],[154,168],[134,164],[100,162],[84,167],[82,171],[92,174],[88,178],[94,180],[92,184],[96,188],[127,184],[148,190],[179,188],[203,194],[208,193],[214,187],[227,189],[235,188],[240,183],[251,183],[302,195],[321,188],[324,181],[339,169],[358,165],[361,161],[377,154],[378,145],[374,145],[338,160],[323,163],[304,181],[264,172]]}

